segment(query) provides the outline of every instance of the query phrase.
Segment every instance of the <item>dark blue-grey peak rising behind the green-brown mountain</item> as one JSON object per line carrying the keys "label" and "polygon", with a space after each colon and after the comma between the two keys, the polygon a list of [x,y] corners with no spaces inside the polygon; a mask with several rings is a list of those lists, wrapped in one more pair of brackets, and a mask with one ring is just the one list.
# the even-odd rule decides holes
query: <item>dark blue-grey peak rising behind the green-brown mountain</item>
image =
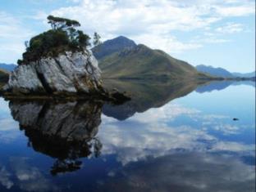
{"label": "dark blue-grey peak rising behind the green-brown mountain", "polygon": [[136,43],[129,38],[119,36],[111,40],[103,42],[103,44],[98,45],[93,48],[94,56],[101,60],[105,56],[109,56],[114,52],[121,51],[124,48],[133,48],[136,47]]}

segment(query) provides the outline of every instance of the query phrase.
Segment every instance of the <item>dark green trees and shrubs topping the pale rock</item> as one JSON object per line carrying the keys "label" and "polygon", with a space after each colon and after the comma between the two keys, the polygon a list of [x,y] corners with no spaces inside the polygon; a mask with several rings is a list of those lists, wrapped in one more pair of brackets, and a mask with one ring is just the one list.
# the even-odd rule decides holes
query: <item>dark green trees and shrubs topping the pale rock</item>
{"label": "dark green trees and shrubs topping the pale rock", "polygon": [[89,36],[75,29],[80,26],[78,21],[55,16],[47,19],[52,29],[25,42],[26,51],[23,60],[17,61],[18,65],[29,64],[44,56],[57,56],[64,51],[83,51],[89,46]]}

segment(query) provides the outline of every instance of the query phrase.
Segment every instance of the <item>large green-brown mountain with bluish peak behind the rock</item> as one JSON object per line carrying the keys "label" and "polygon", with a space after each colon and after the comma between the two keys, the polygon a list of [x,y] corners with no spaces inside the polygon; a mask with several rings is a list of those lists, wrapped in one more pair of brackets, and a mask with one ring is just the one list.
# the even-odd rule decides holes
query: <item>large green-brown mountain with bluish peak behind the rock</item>
{"label": "large green-brown mountain with bluish peak behind the rock", "polygon": [[[105,48],[108,47],[108,51]],[[95,47],[103,78],[195,78],[198,71],[164,51],[136,45],[125,37],[114,38]],[[203,77],[205,78],[205,76]]]}

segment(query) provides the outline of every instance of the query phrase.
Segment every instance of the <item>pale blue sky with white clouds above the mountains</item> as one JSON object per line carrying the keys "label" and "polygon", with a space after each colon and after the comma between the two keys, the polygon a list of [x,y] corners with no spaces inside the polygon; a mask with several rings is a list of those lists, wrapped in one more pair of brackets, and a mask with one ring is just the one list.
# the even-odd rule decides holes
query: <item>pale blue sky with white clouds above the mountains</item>
{"label": "pale blue sky with white clouds above the mountains", "polygon": [[50,29],[48,15],[78,20],[102,41],[123,35],[191,65],[255,70],[254,0],[0,0],[0,63]]}

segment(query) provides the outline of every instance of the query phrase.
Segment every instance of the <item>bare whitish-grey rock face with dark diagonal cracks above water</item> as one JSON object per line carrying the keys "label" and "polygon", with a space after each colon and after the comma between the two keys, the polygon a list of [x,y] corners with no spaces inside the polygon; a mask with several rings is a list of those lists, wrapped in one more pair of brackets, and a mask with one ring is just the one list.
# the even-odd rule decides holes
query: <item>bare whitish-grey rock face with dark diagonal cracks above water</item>
{"label": "bare whitish-grey rock face with dark diagonal cracks above water", "polygon": [[88,94],[101,90],[100,73],[90,51],[66,51],[54,58],[19,65],[3,89],[12,94]]}

